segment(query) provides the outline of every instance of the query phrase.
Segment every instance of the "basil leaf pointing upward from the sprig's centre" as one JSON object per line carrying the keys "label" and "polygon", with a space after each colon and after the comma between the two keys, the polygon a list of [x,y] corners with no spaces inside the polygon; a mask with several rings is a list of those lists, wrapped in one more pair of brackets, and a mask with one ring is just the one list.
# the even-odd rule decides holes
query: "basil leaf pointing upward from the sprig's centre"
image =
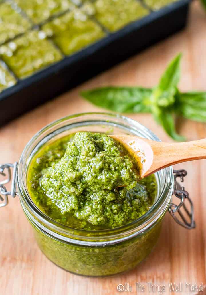
{"label": "basil leaf pointing upward from the sprig's centre", "polygon": [[168,107],[175,102],[174,95],[180,78],[180,59],[181,54],[178,54],[174,60],[167,66],[161,79],[153,90],[152,101],[154,104],[161,107]]}

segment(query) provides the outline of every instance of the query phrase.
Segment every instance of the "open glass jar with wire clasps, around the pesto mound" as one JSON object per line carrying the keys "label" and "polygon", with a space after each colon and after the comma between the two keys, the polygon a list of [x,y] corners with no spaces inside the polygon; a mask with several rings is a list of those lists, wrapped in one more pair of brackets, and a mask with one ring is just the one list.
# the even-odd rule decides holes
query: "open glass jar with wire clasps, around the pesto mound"
{"label": "open glass jar with wire clasps, around the pesto mound", "polygon": [[[2,195],[0,200],[4,201],[0,207],[8,203],[9,194],[13,197],[18,194],[40,249],[61,268],[86,276],[107,276],[127,271],[138,265],[153,249],[167,210],[169,209],[170,214],[176,218],[175,212],[180,212],[180,207],[185,208],[184,200],[189,197],[186,191],[177,190],[180,188],[175,187],[175,195],[181,199],[181,202],[178,206],[171,203],[174,176],[172,168],[168,167],[155,173],[157,193],[154,205],[142,217],[127,225],[112,230],[87,231],[55,222],[43,214],[32,202],[26,186],[27,169],[32,157],[46,142],[49,143],[79,131],[130,134],[159,141],[143,125],[116,114],[84,113],[59,119],[40,130],[28,142],[18,165],[16,162],[0,166],[2,175],[4,169],[8,169],[9,174],[10,167],[14,168],[11,191],[7,192],[4,186],[10,180],[10,174],[8,179],[0,183]],[[183,177],[185,174],[186,171],[177,171],[175,178]],[[17,181],[17,192],[15,181]],[[190,199],[189,201],[191,202]],[[191,213],[188,213],[190,214],[189,222],[176,219],[177,222],[182,223],[181,225],[193,228],[195,226],[193,207],[191,207]]]}

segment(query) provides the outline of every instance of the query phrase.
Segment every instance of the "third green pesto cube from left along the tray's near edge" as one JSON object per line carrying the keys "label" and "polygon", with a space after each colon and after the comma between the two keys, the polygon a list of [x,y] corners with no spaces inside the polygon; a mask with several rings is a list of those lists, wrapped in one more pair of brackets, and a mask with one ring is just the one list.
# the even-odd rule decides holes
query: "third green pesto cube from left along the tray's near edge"
{"label": "third green pesto cube from left along the tray's near edge", "polygon": [[104,36],[101,27],[80,9],[52,20],[43,26],[43,30],[65,55],[70,55]]}

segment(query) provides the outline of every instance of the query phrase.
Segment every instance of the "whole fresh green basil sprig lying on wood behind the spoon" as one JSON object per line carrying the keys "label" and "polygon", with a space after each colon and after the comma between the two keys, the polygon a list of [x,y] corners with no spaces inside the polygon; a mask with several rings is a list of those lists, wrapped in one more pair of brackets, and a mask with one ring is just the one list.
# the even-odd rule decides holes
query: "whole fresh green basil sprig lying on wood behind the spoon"
{"label": "whole fresh green basil sprig lying on wood behind the spoon", "polygon": [[82,91],[81,95],[113,112],[151,113],[171,138],[183,141],[185,138],[175,129],[175,116],[206,122],[206,92],[181,93],[178,90],[181,56],[178,54],[171,61],[158,85],[151,89],[111,86]]}

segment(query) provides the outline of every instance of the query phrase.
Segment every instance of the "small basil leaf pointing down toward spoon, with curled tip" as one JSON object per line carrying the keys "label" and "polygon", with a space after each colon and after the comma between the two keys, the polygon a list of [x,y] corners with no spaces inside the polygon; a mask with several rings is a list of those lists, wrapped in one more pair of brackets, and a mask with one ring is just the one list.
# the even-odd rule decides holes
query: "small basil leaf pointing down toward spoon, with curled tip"
{"label": "small basil leaf pointing down toward spoon, with curled tip", "polygon": [[172,115],[172,110],[157,108],[155,117],[158,118],[158,122],[162,125],[165,132],[176,141],[184,141],[185,138],[176,133],[174,117]]}

